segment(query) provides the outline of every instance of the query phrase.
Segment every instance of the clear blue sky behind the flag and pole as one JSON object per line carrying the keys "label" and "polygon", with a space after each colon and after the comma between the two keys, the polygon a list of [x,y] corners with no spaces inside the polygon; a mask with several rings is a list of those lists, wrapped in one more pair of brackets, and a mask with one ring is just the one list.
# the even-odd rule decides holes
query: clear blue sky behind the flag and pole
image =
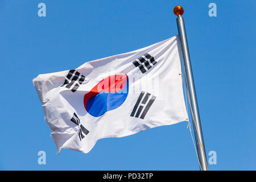
{"label": "clear blue sky behind the flag and pole", "polygon": [[[47,16],[38,16],[44,2]],[[217,17],[208,5],[217,5]],[[57,155],[32,84],[40,73],[133,51],[177,35],[184,7],[210,170],[256,169],[255,1],[0,1],[0,169],[198,170],[187,123],[98,140]],[[38,151],[46,151],[46,165]],[[208,156],[209,158],[209,156]]]}

